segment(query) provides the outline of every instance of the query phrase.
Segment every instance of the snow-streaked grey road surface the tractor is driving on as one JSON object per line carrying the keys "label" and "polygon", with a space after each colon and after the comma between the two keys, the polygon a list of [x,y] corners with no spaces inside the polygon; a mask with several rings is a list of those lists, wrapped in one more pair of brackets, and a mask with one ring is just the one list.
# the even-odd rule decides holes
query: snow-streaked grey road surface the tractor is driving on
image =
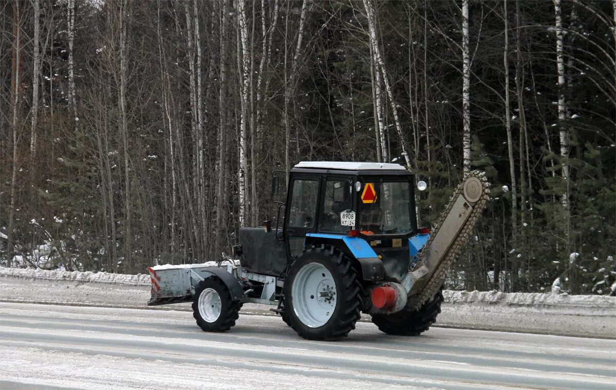
{"label": "snow-streaked grey road surface the tractor is driving on", "polygon": [[[204,333],[181,311],[0,303],[0,388],[609,389],[616,340],[433,328],[298,338],[277,317]],[[267,386],[267,387],[266,387]]]}

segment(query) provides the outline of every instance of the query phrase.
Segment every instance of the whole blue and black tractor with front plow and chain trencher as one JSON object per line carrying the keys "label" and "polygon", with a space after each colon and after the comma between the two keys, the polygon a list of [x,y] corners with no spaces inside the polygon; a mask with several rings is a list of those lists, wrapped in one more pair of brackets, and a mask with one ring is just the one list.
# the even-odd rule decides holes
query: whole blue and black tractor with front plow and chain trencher
{"label": "whole blue and black tractor with front plow and chain trencher", "polygon": [[445,271],[488,199],[484,175],[465,176],[432,233],[418,228],[415,177],[402,165],[300,162],[286,179],[279,226],[241,228],[235,257],[215,266],[150,268],[149,304],[192,300],[208,332],[229,330],[243,303],[276,306],[309,340],[347,336],[361,312],[388,334],[428,330]]}

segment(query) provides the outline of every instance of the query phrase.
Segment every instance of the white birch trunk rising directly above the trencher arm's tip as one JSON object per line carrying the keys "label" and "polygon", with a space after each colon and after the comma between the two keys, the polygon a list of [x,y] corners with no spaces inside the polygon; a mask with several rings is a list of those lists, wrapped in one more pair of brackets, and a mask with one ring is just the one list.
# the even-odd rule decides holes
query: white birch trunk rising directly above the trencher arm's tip
{"label": "white birch trunk rising directly above the trencher arm's tip", "polygon": [[468,50],[468,0],[462,0],[462,118],[463,168],[471,170],[471,58]]}

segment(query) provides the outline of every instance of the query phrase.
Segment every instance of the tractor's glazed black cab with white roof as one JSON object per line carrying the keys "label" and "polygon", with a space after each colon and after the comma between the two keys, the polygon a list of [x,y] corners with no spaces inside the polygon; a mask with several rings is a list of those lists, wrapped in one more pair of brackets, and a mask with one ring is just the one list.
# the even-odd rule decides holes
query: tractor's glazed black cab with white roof
{"label": "tractor's glazed black cab with white roof", "polygon": [[417,230],[413,175],[398,164],[300,162],[291,169],[283,228],[291,256],[307,235],[408,239]]}

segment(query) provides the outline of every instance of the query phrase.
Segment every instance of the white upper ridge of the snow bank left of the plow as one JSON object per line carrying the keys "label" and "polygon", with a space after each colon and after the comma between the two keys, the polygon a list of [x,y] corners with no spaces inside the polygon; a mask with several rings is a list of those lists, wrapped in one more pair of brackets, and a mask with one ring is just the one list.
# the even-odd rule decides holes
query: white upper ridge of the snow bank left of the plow
{"label": "white upper ridge of the snow bank left of the plow", "polygon": [[0,276],[4,277],[28,277],[31,279],[47,279],[50,281],[75,281],[75,282],[95,282],[112,283],[126,285],[150,285],[148,274],[124,275],[110,274],[105,272],[79,272],[79,271],[47,271],[46,269],[30,268],[2,268]]}

